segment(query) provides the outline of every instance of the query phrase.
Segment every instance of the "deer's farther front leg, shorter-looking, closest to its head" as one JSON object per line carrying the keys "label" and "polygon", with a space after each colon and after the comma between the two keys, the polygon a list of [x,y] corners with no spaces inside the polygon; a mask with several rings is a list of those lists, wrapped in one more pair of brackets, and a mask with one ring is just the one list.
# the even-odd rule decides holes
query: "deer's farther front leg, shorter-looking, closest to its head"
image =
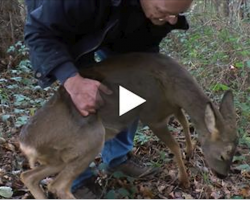
{"label": "deer's farther front leg, shorter-looking, closest to its head", "polygon": [[180,122],[180,124],[183,127],[183,132],[186,138],[186,153],[187,153],[187,158],[191,158],[193,155],[193,144],[192,144],[192,140],[191,140],[191,136],[190,136],[190,130],[189,130],[189,125],[188,125],[188,121],[187,118],[185,117],[182,109],[179,109],[176,113],[175,113],[175,117],[178,119],[178,121]]}

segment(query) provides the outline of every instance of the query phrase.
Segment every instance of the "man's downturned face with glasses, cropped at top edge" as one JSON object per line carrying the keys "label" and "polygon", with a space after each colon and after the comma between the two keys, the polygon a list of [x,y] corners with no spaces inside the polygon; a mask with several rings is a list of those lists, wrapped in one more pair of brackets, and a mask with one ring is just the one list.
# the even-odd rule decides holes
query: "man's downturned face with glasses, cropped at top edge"
{"label": "man's downturned face with glasses, cropped at top edge", "polygon": [[142,9],[147,18],[155,25],[166,22],[174,25],[177,23],[178,14],[185,12],[192,0],[140,0]]}

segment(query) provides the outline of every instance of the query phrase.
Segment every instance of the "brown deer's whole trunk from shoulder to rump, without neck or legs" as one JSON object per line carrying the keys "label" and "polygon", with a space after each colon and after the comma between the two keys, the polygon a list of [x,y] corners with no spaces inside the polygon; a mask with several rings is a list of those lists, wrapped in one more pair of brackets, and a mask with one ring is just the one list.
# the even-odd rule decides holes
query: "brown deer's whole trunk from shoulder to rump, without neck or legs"
{"label": "brown deer's whole trunk from shoulder to rump, without neck or legs", "polygon": [[[146,123],[162,120],[183,107],[185,91],[196,94],[200,90],[186,69],[159,54],[117,56],[80,73],[103,82],[113,91],[112,95],[102,95],[105,106],[98,111],[104,126],[113,133],[125,129],[136,119]],[[146,99],[146,103],[119,117],[119,86]],[[70,148],[83,135],[93,137],[86,129],[89,130],[97,118],[97,115],[82,117],[61,87],[22,128],[20,142],[46,154],[52,149]]]}

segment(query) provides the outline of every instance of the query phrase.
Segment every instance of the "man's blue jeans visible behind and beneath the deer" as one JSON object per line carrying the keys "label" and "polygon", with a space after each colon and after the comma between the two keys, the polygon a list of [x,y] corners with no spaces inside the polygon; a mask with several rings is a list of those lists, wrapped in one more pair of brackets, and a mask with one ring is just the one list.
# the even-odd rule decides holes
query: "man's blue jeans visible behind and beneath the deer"
{"label": "man's blue jeans visible behind and beneath the deer", "polygon": [[[111,54],[111,52],[105,50],[99,50],[96,52],[99,60],[104,60]],[[90,62],[88,64],[90,64]],[[126,130],[119,133],[115,138],[105,142],[104,148],[102,150],[102,160],[108,167],[116,167],[128,159],[127,154],[133,148],[133,140],[135,137],[137,125],[138,120],[136,120]],[[72,190],[74,191],[81,187],[84,184],[84,180],[90,178],[93,175],[94,174],[90,168],[86,169],[73,182]]]}

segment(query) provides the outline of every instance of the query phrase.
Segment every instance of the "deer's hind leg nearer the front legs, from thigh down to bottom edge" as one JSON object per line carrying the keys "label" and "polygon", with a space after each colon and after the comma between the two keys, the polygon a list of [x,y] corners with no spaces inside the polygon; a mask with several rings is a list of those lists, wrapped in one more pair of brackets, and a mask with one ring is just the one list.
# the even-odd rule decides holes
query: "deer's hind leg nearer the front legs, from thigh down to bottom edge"
{"label": "deer's hind leg nearer the front legs, from thigh down to bottom edge", "polygon": [[56,176],[49,185],[49,191],[62,199],[74,199],[71,192],[73,181],[89,166],[95,157],[101,152],[104,140],[105,130],[100,124],[95,124],[82,133],[81,138],[74,142],[74,148],[65,152],[66,154],[77,155],[74,159],[68,160],[64,169]]}

